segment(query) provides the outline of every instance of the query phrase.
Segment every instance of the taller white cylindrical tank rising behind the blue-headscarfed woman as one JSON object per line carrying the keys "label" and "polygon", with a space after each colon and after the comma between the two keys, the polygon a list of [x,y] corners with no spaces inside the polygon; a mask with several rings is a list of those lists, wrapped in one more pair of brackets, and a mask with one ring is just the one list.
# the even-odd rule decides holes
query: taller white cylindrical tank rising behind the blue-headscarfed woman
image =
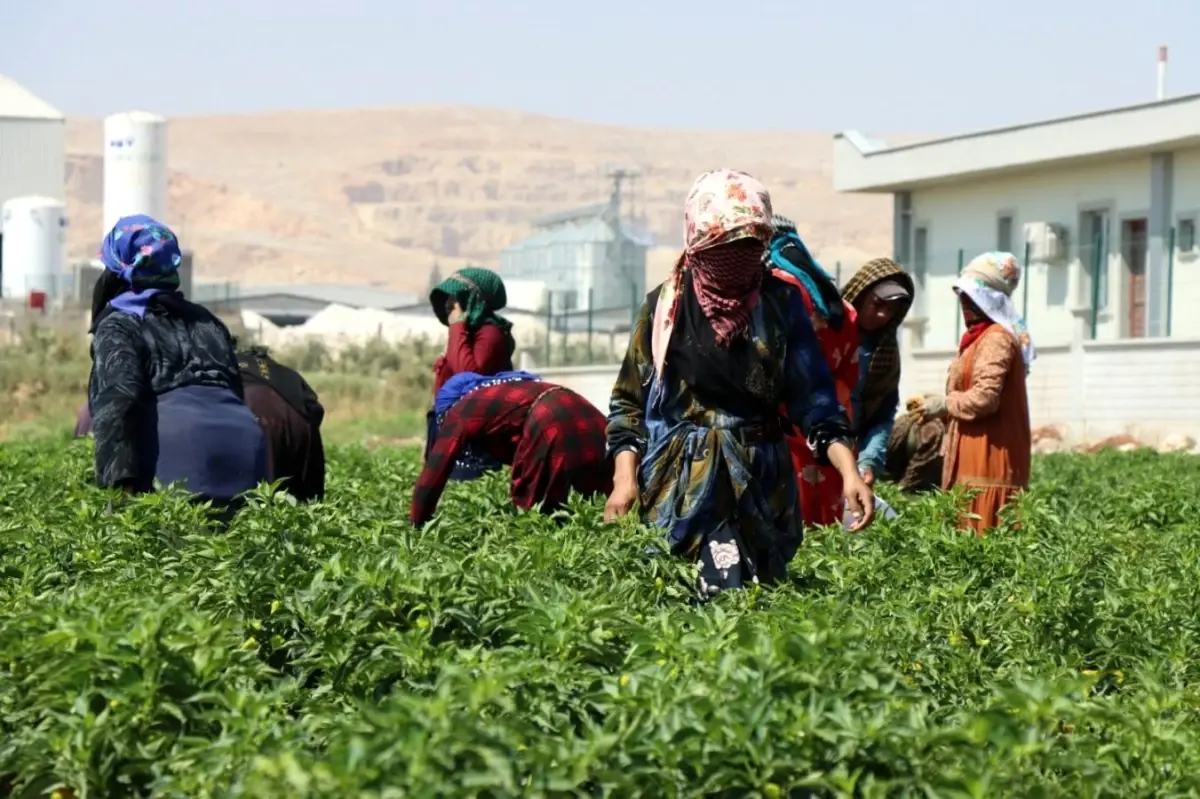
{"label": "taller white cylindrical tank rising behind the blue-headscarfed woman", "polygon": [[104,229],[122,216],[145,214],[168,224],[167,120],[146,112],[104,119]]}

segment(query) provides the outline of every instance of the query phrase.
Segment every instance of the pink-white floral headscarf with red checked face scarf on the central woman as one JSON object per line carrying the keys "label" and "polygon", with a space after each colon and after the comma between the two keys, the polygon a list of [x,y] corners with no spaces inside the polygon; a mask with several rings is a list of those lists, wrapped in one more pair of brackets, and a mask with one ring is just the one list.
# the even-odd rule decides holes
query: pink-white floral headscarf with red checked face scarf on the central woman
{"label": "pink-white floral headscarf with red checked face scarf on the central woman", "polygon": [[[662,284],[652,330],[654,366],[660,373],[674,330],[683,278],[694,272],[696,299],[712,323],[718,342],[726,342],[749,325],[758,300],[763,265],[751,250],[718,258],[709,251],[743,239],[766,246],[773,234],[770,193],[744,172],[706,172],[684,202],[684,251]],[[740,250],[740,248],[739,248]]]}

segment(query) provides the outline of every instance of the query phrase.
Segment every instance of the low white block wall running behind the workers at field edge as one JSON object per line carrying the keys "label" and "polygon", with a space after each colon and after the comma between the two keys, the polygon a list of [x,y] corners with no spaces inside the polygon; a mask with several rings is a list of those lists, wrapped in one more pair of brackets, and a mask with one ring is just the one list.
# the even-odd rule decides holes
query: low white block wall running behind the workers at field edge
{"label": "low white block wall running behind the workers at field edge", "polygon": [[[924,350],[904,361],[901,398],[941,394],[954,349]],[[1130,433],[1154,445],[1183,433],[1200,440],[1200,338],[1078,341],[1042,347],[1028,377],[1030,416],[1060,427],[1072,441]],[[535,370],[608,411],[618,366]]]}

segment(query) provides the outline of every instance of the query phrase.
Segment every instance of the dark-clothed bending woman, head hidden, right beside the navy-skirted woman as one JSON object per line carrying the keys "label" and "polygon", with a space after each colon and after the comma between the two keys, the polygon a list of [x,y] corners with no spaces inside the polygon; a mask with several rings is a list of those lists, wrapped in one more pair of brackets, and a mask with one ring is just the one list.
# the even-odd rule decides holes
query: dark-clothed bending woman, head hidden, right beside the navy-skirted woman
{"label": "dark-clothed bending woman, head hidden, right beside the navy-skirted woman", "polygon": [[266,473],[270,481],[300,501],[325,497],[325,445],[320,423],[325,409],[308,382],[283,366],[265,347],[238,353],[238,370],[246,405],[266,435]]}

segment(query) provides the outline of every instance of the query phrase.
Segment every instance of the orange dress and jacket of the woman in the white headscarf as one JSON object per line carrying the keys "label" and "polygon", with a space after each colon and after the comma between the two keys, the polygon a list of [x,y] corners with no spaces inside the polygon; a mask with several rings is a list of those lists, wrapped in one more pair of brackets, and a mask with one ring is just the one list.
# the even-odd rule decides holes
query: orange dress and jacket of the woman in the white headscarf
{"label": "orange dress and jacket of the woman in the white headscarf", "polygon": [[996,527],[1001,507],[1030,485],[1033,446],[1025,361],[1004,328],[991,325],[950,364],[946,382],[942,487],[977,492],[962,518],[976,535]]}

